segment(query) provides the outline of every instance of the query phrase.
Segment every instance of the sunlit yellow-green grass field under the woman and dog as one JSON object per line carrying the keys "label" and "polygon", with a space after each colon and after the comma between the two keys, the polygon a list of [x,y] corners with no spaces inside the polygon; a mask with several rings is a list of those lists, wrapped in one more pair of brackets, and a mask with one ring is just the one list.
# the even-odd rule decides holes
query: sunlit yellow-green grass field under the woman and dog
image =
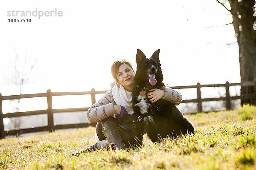
{"label": "sunlit yellow-green grass field under the woman and dog", "polygon": [[94,144],[94,127],[0,140],[0,169],[256,169],[256,107],[187,115],[195,135],[120,151],[70,156]]}

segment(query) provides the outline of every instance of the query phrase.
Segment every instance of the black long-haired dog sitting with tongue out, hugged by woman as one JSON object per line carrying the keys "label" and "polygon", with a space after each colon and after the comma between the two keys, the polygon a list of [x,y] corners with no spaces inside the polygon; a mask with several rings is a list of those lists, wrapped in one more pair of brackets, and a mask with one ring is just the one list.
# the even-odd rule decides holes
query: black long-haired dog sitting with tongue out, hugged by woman
{"label": "black long-haired dog sitting with tongue out, hugged by woman", "polygon": [[[183,116],[183,114],[172,103],[159,99],[157,102],[151,103],[143,94],[148,94],[152,88],[161,88],[163,84],[163,74],[159,61],[160,49],[154,52],[151,58],[146,58],[145,54],[139,49],[137,50],[136,63],[137,71],[134,77],[133,89],[133,109],[136,114],[144,114],[153,111],[154,114],[143,118],[144,134],[148,133],[148,137],[152,142],[161,142],[161,138],[167,136],[175,138],[177,136],[185,136],[186,133],[194,133],[194,127]],[[151,74],[151,83],[149,75]],[[154,74],[154,78],[152,75]],[[156,80],[157,82],[153,81]],[[160,107],[160,111],[157,111]],[[159,109],[158,109],[159,110]]]}

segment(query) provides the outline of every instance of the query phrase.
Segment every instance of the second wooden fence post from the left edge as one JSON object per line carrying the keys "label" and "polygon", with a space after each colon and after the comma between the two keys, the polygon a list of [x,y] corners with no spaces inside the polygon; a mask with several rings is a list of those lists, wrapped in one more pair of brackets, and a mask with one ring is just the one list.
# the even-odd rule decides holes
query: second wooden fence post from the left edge
{"label": "second wooden fence post from the left edge", "polygon": [[47,90],[46,93],[47,96],[47,117],[48,117],[48,127],[49,132],[52,132],[54,130],[53,125],[53,113],[52,113],[52,91],[50,89]]}

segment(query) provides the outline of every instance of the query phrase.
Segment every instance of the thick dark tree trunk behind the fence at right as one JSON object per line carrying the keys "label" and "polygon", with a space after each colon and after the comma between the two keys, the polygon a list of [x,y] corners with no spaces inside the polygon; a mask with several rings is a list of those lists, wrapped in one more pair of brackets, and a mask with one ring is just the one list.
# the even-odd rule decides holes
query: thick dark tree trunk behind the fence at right
{"label": "thick dark tree trunk behind the fence at right", "polygon": [[[240,1],[240,2],[239,2]],[[230,13],[239,45],[241,82],[256,81],[256,4],[254,0],[229,0]],[[241,95],[256,93],[253,86],[241,87]],[[256,99],[241,100],[241,105],[256,105]]]}

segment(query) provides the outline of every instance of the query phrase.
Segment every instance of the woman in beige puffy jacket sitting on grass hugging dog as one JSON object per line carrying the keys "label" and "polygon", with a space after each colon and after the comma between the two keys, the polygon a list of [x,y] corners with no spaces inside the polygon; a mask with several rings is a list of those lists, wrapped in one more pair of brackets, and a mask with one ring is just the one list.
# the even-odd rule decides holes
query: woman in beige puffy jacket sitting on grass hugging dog
{"label": "woman in beige puffy jacket sitting on grass hugging dog", "polygon": [[[135,76],[134,69],[131,63],[126,60],[116,61],[112,64],[111,74],[116,80],[112,84],[112,88],[87,111],[87,118],[96,125],[96,144],[91,145],[86,150],[79,153],[73,153],[73,156],[79,156],[80,153],[87,153],[94,150],[99,150],[102,147],[113,149],[124,149],[140,145],[137,139],[136,123],[132,123],[126,117],[123,121],[131,129],[126,132],[116,125],[116,114],[120,114],[121,106],[125,107],[126,112],[132,119],[136,119],[132,108],[132,89],[133,79]],[[151,89],[146,94],[150,102],[156,102],[159,99],[164,99],[172,102],[174,105],[179,105],[182,102],[182,96],[179,92],[162,87],[161,89]]]}

